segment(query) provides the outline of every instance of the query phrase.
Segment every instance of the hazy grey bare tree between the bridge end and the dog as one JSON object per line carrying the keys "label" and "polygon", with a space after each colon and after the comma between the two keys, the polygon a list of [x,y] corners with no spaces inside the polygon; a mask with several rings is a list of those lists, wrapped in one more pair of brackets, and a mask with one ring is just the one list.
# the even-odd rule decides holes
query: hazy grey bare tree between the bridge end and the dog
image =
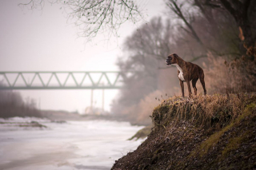
{"label": "hazy grey bare tree between the bridge end and the dog", "polygon": [[[164,86],[176,86],[174,84],[178,81],[170,80],[176,76],[177,70],[159,69],[166,67],[166,56],[171,50],[177,49],[174,34],[169,20],[163,23],[161,18],[152,18],[148,24],[134,30],[134,33],[126,38],[118,66],[123,72],[133,73],[124,78],[125,88],[120,90],[118,100],[112,105],[113,113],[126,117],[126,121],[137,120],[143,111],[136,108],[146,96],[155,94],[157,89],[164,89]],[[163,76],[163,72],[169,76]],[[165,92],[172,91],[172,88],[169,89]],[[155,101],[155,97],[151,96],[150,100]]]}

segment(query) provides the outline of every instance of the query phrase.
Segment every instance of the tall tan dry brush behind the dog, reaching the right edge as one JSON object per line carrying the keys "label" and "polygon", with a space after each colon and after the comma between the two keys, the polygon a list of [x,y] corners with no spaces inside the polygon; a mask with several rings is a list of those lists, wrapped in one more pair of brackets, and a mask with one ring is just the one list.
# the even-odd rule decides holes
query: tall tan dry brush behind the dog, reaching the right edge
{"label": "tall tan dry brush behind the dog, reaching the right edge", "polygon": [[[256,91],[256,46],[246,48],[251,59],[242,56],[230,61],[208,53],[204,65],[207,93],[250,93]],[[230,56],[232,58],[232,56]],[[199,86],[200,87],[200,86]]]}

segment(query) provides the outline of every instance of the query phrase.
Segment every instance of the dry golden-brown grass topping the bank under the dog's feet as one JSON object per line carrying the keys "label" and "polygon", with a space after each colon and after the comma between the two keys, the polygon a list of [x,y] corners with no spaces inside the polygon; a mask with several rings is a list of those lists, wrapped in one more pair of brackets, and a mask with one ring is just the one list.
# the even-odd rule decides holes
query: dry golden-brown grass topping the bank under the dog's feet
{"label": "dry golden-brown grass topping the bank under the dog's feet", "polygon": [[152,121],[155,126],[166,126],[170,121],[185,120],[198,127],[220,129],[238,118],[252,101],[256,101],[255,93],[170,97],[154,109]]}

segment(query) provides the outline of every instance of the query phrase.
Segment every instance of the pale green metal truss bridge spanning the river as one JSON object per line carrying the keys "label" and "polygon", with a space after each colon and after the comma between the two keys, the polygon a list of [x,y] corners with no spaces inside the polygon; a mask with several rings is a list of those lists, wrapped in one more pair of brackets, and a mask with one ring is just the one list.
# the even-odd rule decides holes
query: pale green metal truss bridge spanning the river
{"label": "pale green metal truss bridge spanning the river", "polygon": [[0,72],[0,89],[120,89],[127,73]]}

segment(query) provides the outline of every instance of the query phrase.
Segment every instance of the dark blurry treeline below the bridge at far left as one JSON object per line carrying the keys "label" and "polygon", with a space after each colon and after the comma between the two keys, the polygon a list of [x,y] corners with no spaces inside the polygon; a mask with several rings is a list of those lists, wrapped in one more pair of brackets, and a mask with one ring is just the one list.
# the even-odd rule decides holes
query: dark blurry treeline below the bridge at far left
{"label": "dark blurry treeline below the bridge at far left", "polygon": [[[0,85],[3,85],[0,82]],[[33,99],[22,100],[18,92],[0,90],[0,117],[42,117]]]}

